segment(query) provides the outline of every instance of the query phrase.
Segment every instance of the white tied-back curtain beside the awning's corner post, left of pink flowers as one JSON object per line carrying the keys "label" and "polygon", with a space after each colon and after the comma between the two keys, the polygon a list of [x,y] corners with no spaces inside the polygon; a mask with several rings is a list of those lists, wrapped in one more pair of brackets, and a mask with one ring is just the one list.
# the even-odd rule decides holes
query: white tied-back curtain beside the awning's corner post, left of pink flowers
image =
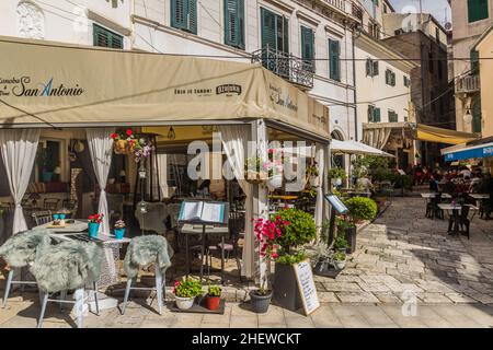
{"label": "white tied-back curtain beside the awning's corner post, left of pink flowers", "polygon": [[255,275],[255,235],[253,233],[253,185],[244,179],[244,161],[246,144],[250,140],[250,126],[219,126],[222,147],[228,162],[238,179],[238,184],[246,196],[244,220],[244,245],[241,265],[241,275],[246,278]]}

